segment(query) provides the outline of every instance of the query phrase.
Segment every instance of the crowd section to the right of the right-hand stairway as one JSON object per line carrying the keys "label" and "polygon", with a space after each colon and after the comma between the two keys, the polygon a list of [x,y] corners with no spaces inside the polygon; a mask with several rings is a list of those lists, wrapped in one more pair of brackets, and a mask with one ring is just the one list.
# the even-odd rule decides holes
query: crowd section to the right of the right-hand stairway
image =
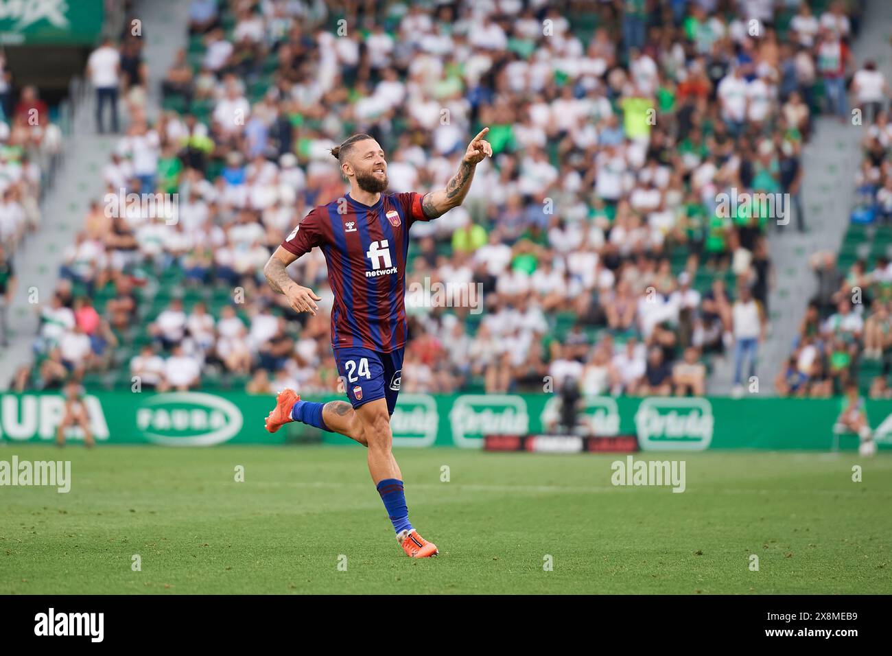
{"label": "crowd section to the right of the right-hand stairway", "polygon": [[[863,71],[875,72],[869,63]],[[859,73],[855,74],[855,80]],[[871,398],[892,398],[888,375],[892,371],[892,125],[888,120],[888,90],[876,73],[871,86],[881,95],[862,98],[860,107],[871,111],[865,125],[862,166],[855,173],[859,198],[843,244],[847,262],[837,253],[811,256],[817,294],[808,305],[793,350],[777,375],[782,395],[830,396],[841,394],[853,382]],[[848,253],[846,253],[848,251]]]}

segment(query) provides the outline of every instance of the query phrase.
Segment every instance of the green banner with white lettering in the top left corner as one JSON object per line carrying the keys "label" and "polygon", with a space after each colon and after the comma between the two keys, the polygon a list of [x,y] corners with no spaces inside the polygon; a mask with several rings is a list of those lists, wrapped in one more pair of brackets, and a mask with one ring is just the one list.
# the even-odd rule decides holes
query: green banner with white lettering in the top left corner
{"label": "green banner with white lettering in the top left corner", "polygon": [[0,0],[0,44],[81,46],[96,42],[103,0]]}

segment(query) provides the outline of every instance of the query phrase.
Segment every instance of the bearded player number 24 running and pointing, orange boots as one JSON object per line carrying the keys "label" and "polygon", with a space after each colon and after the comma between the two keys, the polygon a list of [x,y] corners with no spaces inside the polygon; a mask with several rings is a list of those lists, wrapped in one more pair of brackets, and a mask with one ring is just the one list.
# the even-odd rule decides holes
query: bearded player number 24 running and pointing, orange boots
{"label": "bearded player number 24 running and pointing, orange boots", "polygon": [[332,348],[350,403],[301,401],[292,389],[277,395],[266,419],[275,433],[289,421],[301,421],[340,433],[368,447],[368,471],[390,516],[397,541],[409,557],[437,554],[409,522],[400,466],[391,451],[390,418],[400,393],[406,309],[403,304],[409,228],[436,219],[462,203],[475,167],[492,148],[484,128],[467,146],[458,172],[441,191],[386,194],[387,161],[378,142],[353,135],[331,153],[350,182],[350,193],[311,210],[269,258],[264,269],[269,286],[284,294],[294,311],[318,311],[321,300],[295,283],[285,270],[318,246],[328,265],[335,294]]}

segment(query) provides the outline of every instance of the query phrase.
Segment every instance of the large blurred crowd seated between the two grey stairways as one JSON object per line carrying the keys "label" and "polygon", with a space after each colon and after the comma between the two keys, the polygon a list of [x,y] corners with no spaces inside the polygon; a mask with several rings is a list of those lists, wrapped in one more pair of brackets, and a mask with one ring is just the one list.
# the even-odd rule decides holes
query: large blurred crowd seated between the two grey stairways
{"label": "large blurred crowd seated between the two grey stairways", "polygon": [[[150,122],[137,94],[103,171],[106,198],[178,194],[178,220],[94,203],[17,386],[73,373],[332,391],[322,253],[293,266],[323,297],[316,317],[295,315],[261,273],[306,212],[343,195],[328,149],[367,132],[390,189],[424,193],[481,126],[491,162],[462,207],[413,228],[407,283],[478,287],[484,311],[410,305],[403,389],[541,391],[550,377],[584,394],[704,394],[710,358],[731,356],[739,386],[764,339],[775,217],[723,212],[718,198],[789,194],[805,230],[802,146],[815,112],[847,116],[857,27],[846,3],[812,5],[572,13],[506,0],[342,15],[192,0],[165,111]],[[135,71],[140,44],[123,46]]]}

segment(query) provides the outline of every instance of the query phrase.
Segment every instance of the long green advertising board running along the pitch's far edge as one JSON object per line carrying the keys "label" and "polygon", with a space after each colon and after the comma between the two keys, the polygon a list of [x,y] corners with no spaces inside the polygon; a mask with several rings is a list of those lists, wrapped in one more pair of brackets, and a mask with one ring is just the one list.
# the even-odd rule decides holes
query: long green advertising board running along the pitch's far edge
{"label": "long green advertising board running along the pitch's far edge", "polygon": [[[315,397],[324,401],[339,396]],[[347,437],[302,424],[263,428],[272,396],[224,392],[99,392],[82,400],[100,444],[285,444]],[[855,449],[858,438],[833,431],[837,399],[749,397],[585,399],[582,422],[598,436],[633,435],[644,451]],[[553,394],[401,394],[392,417],[395,446],[480,448],[484,435],[547,433],[558,419]],[[867,403],[877,444],[892,446],[892,401]],[[0,441],[52,443],[65,413],[58,393],[0,394]],[[82,438],[71,429],[70,439]]]}

